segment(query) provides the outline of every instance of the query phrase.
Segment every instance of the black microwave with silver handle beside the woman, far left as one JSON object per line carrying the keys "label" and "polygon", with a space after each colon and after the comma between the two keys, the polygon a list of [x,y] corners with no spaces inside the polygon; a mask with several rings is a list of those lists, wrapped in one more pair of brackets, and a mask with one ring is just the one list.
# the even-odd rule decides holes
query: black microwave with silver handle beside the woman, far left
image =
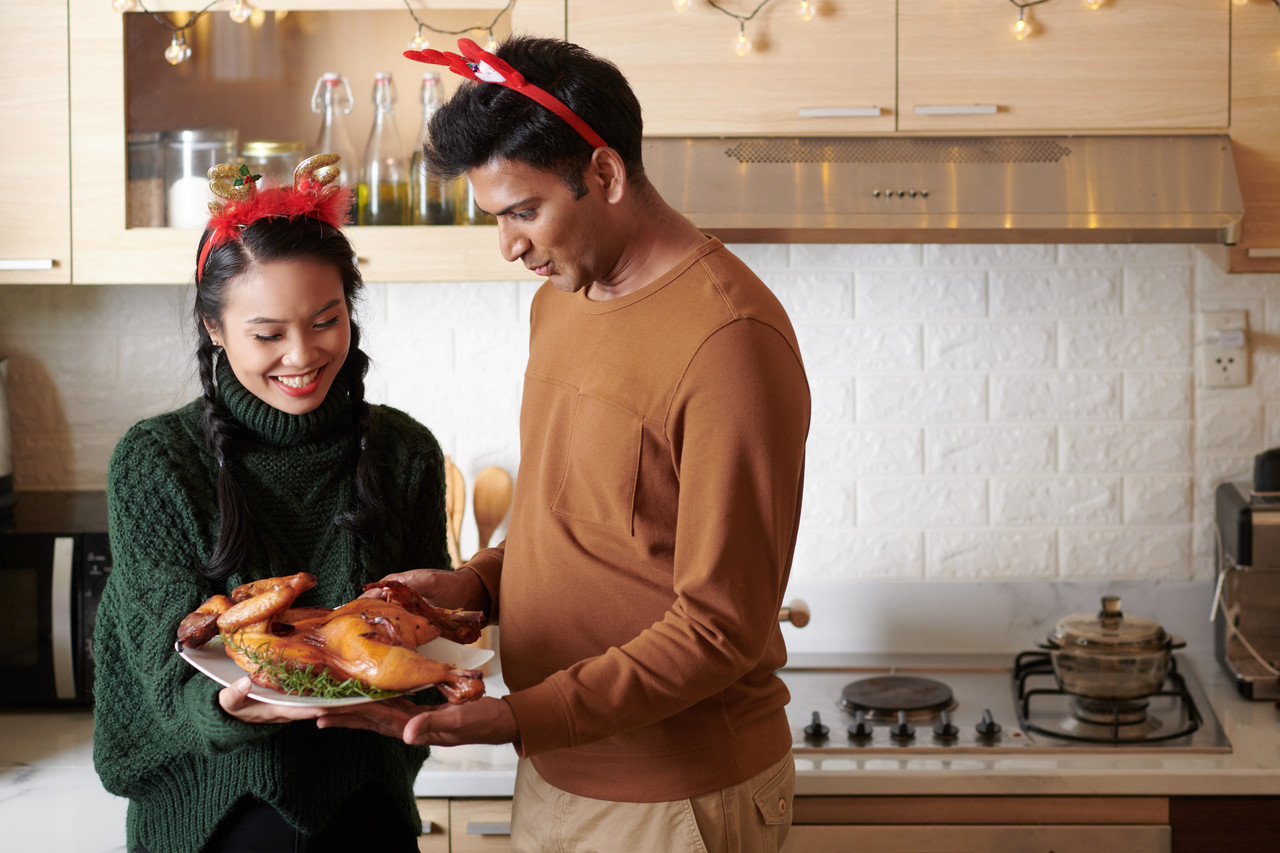
{"label": "black microwave with silver handle beside the woman, far left", "polygon": [[93,619],[111,573],[104,492],[19,492],[0,521],[0,706],[93,702]]}

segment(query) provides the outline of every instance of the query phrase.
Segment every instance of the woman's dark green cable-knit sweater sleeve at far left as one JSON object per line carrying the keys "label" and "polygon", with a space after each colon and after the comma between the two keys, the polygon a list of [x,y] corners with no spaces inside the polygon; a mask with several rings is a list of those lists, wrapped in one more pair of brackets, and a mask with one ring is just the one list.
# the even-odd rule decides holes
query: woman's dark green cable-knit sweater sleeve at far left
{"label": "woman's dark green cable-knit sweater sleeve at far left", "polygon": [[174,648],[178,622],[214,593],[198,571],[218,523],[192,501],[212,488],[198,456],[175,459],[143,423],[108,469],[113,567],[93,635],[93,760],[120,795],[156,784],[172,756],[234,751],[279,729],[224,713],[221,685]]}

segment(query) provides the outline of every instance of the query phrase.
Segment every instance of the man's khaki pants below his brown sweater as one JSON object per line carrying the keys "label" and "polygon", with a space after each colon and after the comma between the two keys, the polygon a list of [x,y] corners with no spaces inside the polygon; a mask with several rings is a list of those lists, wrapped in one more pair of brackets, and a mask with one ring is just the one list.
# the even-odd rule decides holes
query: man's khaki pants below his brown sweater
{"label": "man's khaki pants below his brown sweater", "polygon": [[562,792],[527,760],[516,767],[513,853],[777,853],[791,827],[791,753],[740,785],[667,803]]}

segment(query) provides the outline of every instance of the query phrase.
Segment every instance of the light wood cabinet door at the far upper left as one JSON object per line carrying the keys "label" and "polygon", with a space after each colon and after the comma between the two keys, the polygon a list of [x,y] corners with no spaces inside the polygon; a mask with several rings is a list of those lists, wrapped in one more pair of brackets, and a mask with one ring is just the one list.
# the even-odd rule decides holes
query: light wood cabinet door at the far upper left
{"label": "light wood cabinet door at the far upper left", "polygon": [[0,0],[0,284],[72,279],[67,5]]}

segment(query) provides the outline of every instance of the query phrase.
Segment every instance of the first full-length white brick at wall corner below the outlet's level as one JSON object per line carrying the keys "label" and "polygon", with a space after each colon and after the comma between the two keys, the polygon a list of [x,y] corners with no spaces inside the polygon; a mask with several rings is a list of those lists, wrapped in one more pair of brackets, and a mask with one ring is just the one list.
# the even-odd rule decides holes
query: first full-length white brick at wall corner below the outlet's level
{"label": "first full-length white brick at wall corner below the outlet's level", "polygon": [[1183,424],[1064,425],[1061,470],[1174,473],[1192,467],[1190,426]]}

